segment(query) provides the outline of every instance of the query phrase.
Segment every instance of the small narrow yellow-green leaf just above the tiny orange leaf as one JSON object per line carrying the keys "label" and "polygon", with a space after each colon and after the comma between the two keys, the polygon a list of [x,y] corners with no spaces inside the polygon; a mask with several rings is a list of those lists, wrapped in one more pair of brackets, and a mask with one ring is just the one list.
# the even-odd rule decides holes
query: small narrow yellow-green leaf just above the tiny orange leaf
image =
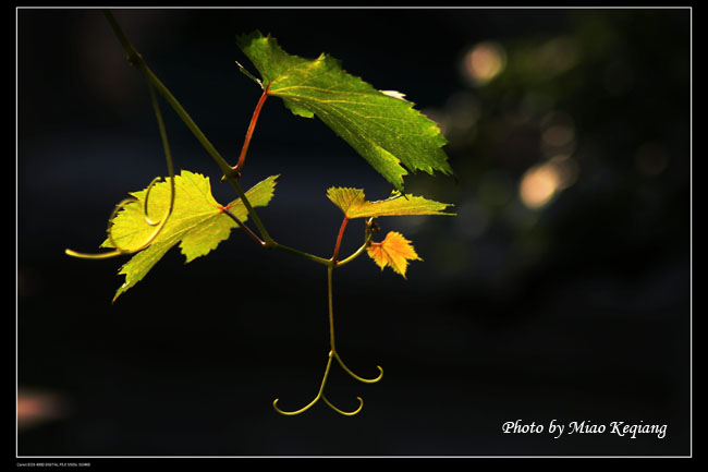
{"label": "small narrow yellow-green leaf just above the tiny orange leaf", "polygon": [[452,204],[440,203],[415,195],[402,196],[401,194],[395,194],[387,199],[368,202],[362,189],[333,186],[327,191],[327,197],[349,219],[403,215],[454,215],[443,211],[447,207],[453,206]]}

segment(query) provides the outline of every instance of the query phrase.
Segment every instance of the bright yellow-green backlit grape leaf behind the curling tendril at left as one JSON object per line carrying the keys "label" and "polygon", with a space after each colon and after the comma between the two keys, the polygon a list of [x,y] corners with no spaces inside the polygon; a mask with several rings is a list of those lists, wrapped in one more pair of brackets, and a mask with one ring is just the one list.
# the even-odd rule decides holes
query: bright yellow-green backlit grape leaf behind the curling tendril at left
{"label": "bright yellow-green backlit grape leaf behind the curling tendril at left", "polygon": [[[266,206],[270,202],[278,176],[271,176],[246,192],[252,206]],[[132,192],[135,202],[123,206],[111,220],[111,234],[118,247],[135,250],[145,244],[155,227],[145,219],[144,205],[147,189]],[[149,193],[148,215],[157,220],[167,214],[170,205],[169,181],[156,183]],[[137,252],[125,263],[119,274],[125,282],[118,289],[113,301],[141,281],[158,261],[175,244],[180,244],[186,263],[204,256],[229,238],[231,229],[237,223],[223,214],[223,206],[211,195],[209,178],[183,170],[174,177],[174,206],[162,231],[146,249]],[[241,198],[225,206],[236,218],[248,218]],[[115,247],[110,239],[101,247]]]}

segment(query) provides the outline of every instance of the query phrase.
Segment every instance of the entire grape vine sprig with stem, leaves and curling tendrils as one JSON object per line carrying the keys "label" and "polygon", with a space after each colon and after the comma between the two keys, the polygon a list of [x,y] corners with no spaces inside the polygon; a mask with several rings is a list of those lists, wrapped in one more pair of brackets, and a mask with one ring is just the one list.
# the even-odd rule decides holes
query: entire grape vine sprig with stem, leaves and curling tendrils
{"label": "entire grape vine sprig with stem, leaves and curling tendrils", "polygon": [[[412,171],[422,169],[430,174],[436,170],[445,174],[452,173],[447,156],[440,149],[445,141],[439,129],[414,110],[413,104],[405,100],[402,94],[374,89],[358,77],[344,72],[339,61],[329,56],[321,55],[315,60],[306,60],[288,55],[273,38],[264,37],[256,32],[240,36],[237,45],[252,60],[263,80],[256,78],[240,63],[236,64],[241,72],[260,86],[263,93],[248,124],[237,161],[231,166],[150,70],[113,14],[108,10],[103,13],[123,47],[127,61],[148,85],[164,150],[168,177],[164,182],[161,178],[154,179],[145,190],[131,193],[132,197],[113,208],[109,217],[107,240],[101,244],[101,247],[109,249],[108,252],[89,254],[66,250],[65,253],[88,259],[133,255],[121,268],[120,274],[125,275],[125,282],[117,291],[113,301],[142,280],[172,246],[180,244],[182,253],[190,262],[216,249],[220,241],[229,237],[233,228],[243,229],[260,247],[286,252],[326,266],[330,350],[319,390],[308,404],[297,410],[282,410],[278,406],[279,399],[276,399],[272,406],[278,413],[295,415],[307,411],[321,399],[338,413],[357,414],[364,404],[361,397],[357,397],[359,404],[355,410],[344,411],[325,396],[332,361],[335,360],[352,378],[366,384],[379,382],[383,370],[377,366],[379,373],[373,378],[358,376],[346,366],[337,351],[332,273],[366,252],[381,269],[390,266],[405,278],[408,262],[420,259],[411,242],[398,232],[389,232],[381,242],[373,241],[379,231],[375,219],[383,216],[453,215],[444,211],[450,204],[403,193],[403,176],[407,173],[405,168]],[[211,196],[207,178],[188,171],[175,174],[158,96],[172,108],[202,144],[223,173],[221,180],[233,186],[237,199],[228,205],[219,204]],[[328,198],[343,213],[334,249],[329,258],[283,245],[267,231],[255,208],[268,205],[278,176],[265,179],[247,192],[243,191],[239,182],[244,172],[248,147],[260,111],[270,96],[280,97],[296,116],[321,119],[394,186],[389,198],[376,202],[367,201],[364,191],[359,189],[328,190]],[[155,215],[155,210],[161,214],[160,219],[150,218],[149,215]],[[255,230],[249,228],[248,218],[253,221]],[[350,220],[355,218],[365,218],[364,241],[351,255],[340,258],[344,232]]]}

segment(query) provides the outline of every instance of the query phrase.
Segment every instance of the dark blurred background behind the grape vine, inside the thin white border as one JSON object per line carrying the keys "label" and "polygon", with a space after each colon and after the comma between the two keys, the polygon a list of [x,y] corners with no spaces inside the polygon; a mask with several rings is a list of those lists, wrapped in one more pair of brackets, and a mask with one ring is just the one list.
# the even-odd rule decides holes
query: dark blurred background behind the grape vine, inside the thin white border
{"label": "dark blurred background behind the grape vine, inside the thin white border", "polygon": [[[147,86],[99,11],[17,10],[17,383],[38,412],[30,423],[22,410],[20,456],[691,452],[691,10],[115,15],[232,162],[260,95],[234,63],[253,71],[239,33],[270,33],[303,57],[329,52],[375,87],[405,93],[440,123],[455,170],[413,176],[406,189],[459,215],[380,220],[425,259],[407,280],[365,256],[334,273],[338,351],[359,375],[381,365],[384,376],[364,385],[335,366],[328,398],[354,409],[361,396],[363,411],[344,417],[320,403],[281,416],[273,399],[297,409],[319,387],[326,270],[234,231],[187,266],[172,250],[111,305],[124,259],[63,251],[95,251],[112,206],[166,174]],[[505,57],[484,85],[464,72],[481,41]],[[178,169],[233,198],[163,113]],[[520,184],[550,161],[565,189],[529,208]],[[244,186],[272,173],[280,183],[260,211],[269,231],[322,256],[341,222],[329,186],[390,192],[321,122],[276,98]],[[350,226],[344,254],[362,228]],[[668,431],[553,439],[501,429],[553,419]]]}

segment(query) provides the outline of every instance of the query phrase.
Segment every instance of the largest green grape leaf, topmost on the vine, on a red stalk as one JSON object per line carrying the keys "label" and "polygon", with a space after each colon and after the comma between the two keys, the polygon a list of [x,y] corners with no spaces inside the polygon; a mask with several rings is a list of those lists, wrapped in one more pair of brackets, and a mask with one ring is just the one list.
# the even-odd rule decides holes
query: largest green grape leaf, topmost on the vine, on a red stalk
{"label": "largest green grape leaf, topmost on the vine, on a red stalk", "polygon": [[317,116],[399,191],[407,170],[452,174],[441,149],[447,140],[403,94],[377,90],[328,55],[314,60],[289,55],[260,32],[239,36],[236,44],[268,95],[282,98],[294,114]]}

